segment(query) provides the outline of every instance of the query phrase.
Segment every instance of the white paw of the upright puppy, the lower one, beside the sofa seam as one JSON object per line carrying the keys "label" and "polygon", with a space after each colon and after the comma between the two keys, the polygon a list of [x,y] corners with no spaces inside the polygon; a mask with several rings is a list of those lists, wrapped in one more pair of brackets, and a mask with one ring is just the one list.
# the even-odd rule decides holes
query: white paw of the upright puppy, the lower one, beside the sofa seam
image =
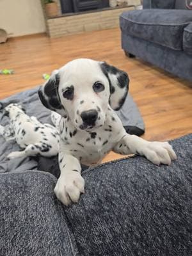
{"label": "white paw of the upright puppy, the lower one, beside the sofa seam", "polygon": [[65,177],[60,177],[54,188],[57,198],[65,205],[71,202],[76,203],[80,194],[84,193],[84,179],[77,170],[65,173]]}

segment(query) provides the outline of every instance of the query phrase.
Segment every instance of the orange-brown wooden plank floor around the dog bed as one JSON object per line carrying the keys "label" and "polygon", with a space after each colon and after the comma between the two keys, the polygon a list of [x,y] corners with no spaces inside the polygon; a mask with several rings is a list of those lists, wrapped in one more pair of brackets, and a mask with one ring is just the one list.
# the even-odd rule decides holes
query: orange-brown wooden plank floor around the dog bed
{"label": "orange-brown wooden plank floor around the dog bed", "polygon": [[[11,38],[0,45],[0,69],[13,68],[15,74],[0,75],[0,99],[44,83],[42,74],[74,58],[105,60],[129,74],[129,92],[145,121],[143,138],[163,141],[192,132],[192,83],[127,58],[119,29],[54,39],[45,35]],[[104,161],[119,157],[111,152]]]}

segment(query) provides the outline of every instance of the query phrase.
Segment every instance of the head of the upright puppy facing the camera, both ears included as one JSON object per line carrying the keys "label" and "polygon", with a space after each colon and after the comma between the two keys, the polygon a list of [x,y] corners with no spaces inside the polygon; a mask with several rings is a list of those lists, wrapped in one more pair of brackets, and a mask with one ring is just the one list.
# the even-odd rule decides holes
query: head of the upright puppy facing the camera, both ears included
{"label": "head of the upright puppy facing the camera, both ears included", "polygon": [[70,61],[51,75],[38,92],[46,108],[70,118],[77,129],[90,131],[104,124],[108,104],[122,107],[129,88],[127,74],[105,62]]}

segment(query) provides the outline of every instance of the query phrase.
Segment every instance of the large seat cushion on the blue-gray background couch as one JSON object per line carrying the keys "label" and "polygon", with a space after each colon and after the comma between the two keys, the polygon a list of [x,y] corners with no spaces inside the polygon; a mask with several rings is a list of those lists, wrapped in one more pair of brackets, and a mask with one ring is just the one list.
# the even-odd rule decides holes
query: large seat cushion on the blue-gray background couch
{"label": "large seat cushion on the blue-gray background couch", "polygon": [[183,31],[192,22],[189,10],[133,10],[120,15],[120,28],[127,35],[182,51]]}

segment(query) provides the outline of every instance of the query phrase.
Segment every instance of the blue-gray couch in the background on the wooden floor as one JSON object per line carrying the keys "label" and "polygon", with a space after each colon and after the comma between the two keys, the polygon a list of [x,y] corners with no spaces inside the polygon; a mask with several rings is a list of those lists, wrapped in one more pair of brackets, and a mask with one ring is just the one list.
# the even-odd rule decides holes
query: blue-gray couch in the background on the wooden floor
{"label": "blue-gray couch in the background on the wooden floor", "polygon": [[143,0],[143,10],[122,13],[125,54],[192,81],[192,10],[185,3]]}

